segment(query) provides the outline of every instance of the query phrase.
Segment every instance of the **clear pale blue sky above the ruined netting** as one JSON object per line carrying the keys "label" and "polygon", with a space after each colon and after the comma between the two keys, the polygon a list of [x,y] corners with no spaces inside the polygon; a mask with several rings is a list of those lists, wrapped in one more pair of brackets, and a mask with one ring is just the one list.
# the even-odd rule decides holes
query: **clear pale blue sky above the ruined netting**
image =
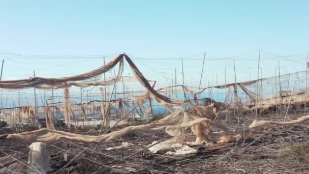
{"label": "clear pale blue sky above the ruined netting", "polygon": [[308,7],[309,1],[2,1],[3,78],[27,78],[33,70],[75,75],[122,52],[159,81],[175,68],[181,78],[183,58],[193,85],[205,51],[203,78],[218,74],[219,83],[224,68],[233,81],[233,60],[237,80],[248,80],[250,71],[256,78],[259,49],[264,77],[274,75],[278,60],[283,73],[300,71],[309,50]]}

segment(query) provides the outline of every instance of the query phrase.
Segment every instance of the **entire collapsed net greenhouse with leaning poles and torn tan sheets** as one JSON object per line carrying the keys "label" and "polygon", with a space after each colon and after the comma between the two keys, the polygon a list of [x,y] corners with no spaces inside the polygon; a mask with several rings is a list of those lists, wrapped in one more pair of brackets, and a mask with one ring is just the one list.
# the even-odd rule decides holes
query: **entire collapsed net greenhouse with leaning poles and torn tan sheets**
{"label": "entire collapsed net greenhouse with leaning poles and torn tan sheets", "polygon": [[[134,77],[123,75],[125,63],[129,65]],[[106,79],[105,73],[113,69],[118,70],[113,77]],[[76,158],[81,158],[99,165],[100,167],[94,171],[103,173],[166,173],[180,170],[197,172],[192,166],[191,169],[178,167],[176,161],[171,162],[173,165],[156,164],[157,167],[153,168],[149,168],[150,164],[139,167],[134,165],[134,162],[128,162],[128,160],[138,162],[136,158],[139,157],[135,156],[140,153],[143,158],[148,158],[143,154],[146,151],[149,154],[159,153],[164,156],[180,155],[181,159],[176,158],[181,165],[182,161],[186,160],[186,155],[191,154],[190,157],[187,156],[190,160],[203,162],[203,165],[199,164],[202,166],[199,171],[220,172],[226,164],[223,163],[215,169],[207,168],[205,159],[208,156],[194,159],[192,155],[201,156],[201,153],[209,155],[206,153],[207,150],[220,152],[227,147],[232,147],[231,149],[234,147],[235,150],[237,144],[240,144],[238,152],[243,152],[253,146],[265,133],[275,129],[276,125],[305,123],[309,120],[308,116],[295,117],[293,114],[306,113],[309,104],[306,99],[306,78],[307,71],[244,82],[237,82],[235,75],[234,83],[195,88],[183,82],[158,89],[156,80],[147,79],[127,54],[120,54],[106,65],[84,74],[63,78],[33,77],[0,81],[1,89],[15,92],[21,89],[34,89],[41,94],[41,102],[38,102],[39,99],[35,95],[34,104],[30,102],[20,104],[18,98],[18,101],[14,101],[18,106],[0,108],[3,122],[8,124],[7,127],[1,128],[0,139],[22,141],[29,145],[24,152],[2,151],[4,154],[0,156],[2,163],[0,171],[47,173],[65,172],[64,168],[73,171],[75,169],[69,167],[72,167]],[[142,86],[143,89],[136,91],[126,89],[124,83],[128,81],[131,85]],[[85,99],[81,100],[83,95],[72,96],[70,93],[72,88],[91,88],[99,95],[89,97],[87,94],[87,101],[84,101]],[[42,95],[46,91],[52,91],[50,98]],[[216,91],[216,100],[213,91]],[[54,92],[60,94],[59,101],[54,100]],[[26,99],[26,96],[24,97]],[[276,119],[265,117],[267,114],[275,114]],[[261,133],[266,127],[270,128]],[[84,134],[82,130],[86,129],[88,133],[90,129],[94,131]],[[278,129],[276,131],[279,131]],[[137,149],[134,149],[134,146],[138,147],[136,143],[131,142],[130,138],[125,138],[156,136],[158,133],[157,139],[151,139],[151,142],[144,141],[141,145],[139,141],[141,147]],[[254,140],[249,142],[250,139]],[[115,144],[120,142],[121,146],[100,149],[100,146],[109,146],[111,142]],[[73,152],[71,148],[67,151],[65,148],[56,147],[59,143],[66,143],[66,148],[76,146],[82,150]],[[94,148],[90,148],[91,146]],[[49,159],[48,148],[63,150],[65,156],[60,160]],[[129,151],[119,158],[112,153],[106,154],[111,151],[117,154],[120,149]],[[120,162],[112,165],[114,162],[90,159],[81,155],[85,151],[101,155],[105,152],[105,158]],[[69,160],[68,154],[71,154]],[[171,157],[173,158],[175,157]],[[53,162],[58,166],[52,165]],[[125,165],[127,162],[130,165]],[[245,172],[243,169],[238,169],[235,167],[236,171]],[[92,169],[88,170],[94,172]]]}

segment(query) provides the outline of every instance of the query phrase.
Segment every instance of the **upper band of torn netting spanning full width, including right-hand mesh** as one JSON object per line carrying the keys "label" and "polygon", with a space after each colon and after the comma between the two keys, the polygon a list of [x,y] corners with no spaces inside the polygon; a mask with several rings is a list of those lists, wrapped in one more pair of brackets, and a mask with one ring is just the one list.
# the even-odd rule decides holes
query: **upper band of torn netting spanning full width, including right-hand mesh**
{"label": "upper band of torn netting spanning full width, including right-hand mesh", "polygon": [[[140,72],[138,67],[134,64],[132,59],[126,54],[120,54],[116,56],[112,61],[107,63],[104,66],[99,67],[96,70],[92,70],[88,73],[79,74],[75,76],[69,77],[61,77],[61,78],[43,78],[43,77],[33,77],[29,79],[20,79],[20,80],[7,80],[0,81],[0,88],[3,89],[25,89],[25,88],[37,88],[37,89],[65,89],[70,88],[70,86],[78,86],[81,88],[87,86],[97,86],[97,85],[111,85],[116,81],[119,81],[121,78],[123,80],[122,72],[123,72],[123,64],[127,62],[133,71],[135,78],[146,88],[146,92],[151,96],[140,96],[141,100],[148,98],[153,99],[160,105],[166,106],[168,110],[171,111],[171,105],[182,105],[186,103],[189,106],[201,105],[202,103],[197,102],[199,100],[199,95],[204,94],[204,96],[208,94],[212,94],[212,89],[217,89],[217,95],[225,94],[224,101],[221,101],[225,104],[232,105],[236,104],[238,106],[250,106],[255,105],[255,103],[259,104],[259,107],[269,106],[269,105],[277,105],[278,103],[282,104],[287,102],[283,100],[284,97],[291,96],[292,87],[294,81],[297,88],[295,88],[293,101],[300,101],[300,98],[303,98],[304,89],[305,89],[305,77],[306,71],[296,72],[291,74],[285,74],[281,76],[271,77],[271,78],[261,78],[258,80],[251,80],[245,82],[235,82],[224,85],[217,86],[209,86],[207,88],[198,89],[198,91],[194,91],[193,88],[188,88],[188,86],[184,85],[173,85],[168,86],[167,88],[154,90],[154,85],[156,81],[148,80],[144,77],[144,75]],[[110,71],[112,68],[119,66],[118,72],[115,77],[109,80],[103,80],[102,74]],[[149,82],[154,82],[150,84]],[[183,92],[183,99],[172,99],[167,97],[164,94],[164,90],[167,91],[169,89],[177,89],[178,93]],[[179,88],[181,90],[179,90]],[[294,89],[293,89],[294,91]],[[117,93],[119,94],[119,93]],[[138,96],[136,96],[138,97]],[[208,98],[212,98],[210,95]],[[217,97],[218,98],[218,97]],[[218,100],[218,99],[217,99]],[[151,103],[149,103],[151,104]]]}

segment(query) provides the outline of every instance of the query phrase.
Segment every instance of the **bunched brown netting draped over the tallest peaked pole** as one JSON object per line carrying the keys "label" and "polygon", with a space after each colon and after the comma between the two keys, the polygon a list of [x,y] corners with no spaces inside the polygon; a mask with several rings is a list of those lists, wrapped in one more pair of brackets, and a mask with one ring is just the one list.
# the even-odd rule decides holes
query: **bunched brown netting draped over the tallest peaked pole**
{"label": "bunched brown netting draped over the tallest peaked pole", "polygon": [[[99,67],[96,70],[92,70],[87,73],[69,76],[69,77],[61,77],[61,78],[43,78],[43,77],[34,77],[29,79],[20,79],[20,80],[6,80],[0,82],[0,88],[3,89],[26,89],[26,88],[38,88],[38,89],[60,89],[60,88],[69,88],[70,86],[78,86],[78,87],[87,87],[87,86],[96,86],[96,85],[110,85],[115,81],[119,81],[123,72],[123,58],[125,57],[128,62],[130,68],[134,72],[137,80],[149,91],[154,97],[157,97],[160,100],[163,100],[167,103],[171,104],[182,104],[182,100],[173,100],[169,97],[166,97],[156,90],[153,89],[154,84],[151,86],[149,81],[147,80],[143,74],[139,71],[137,66],[133,63],[130,57],[126,54],[120,54],[115,57],[111,62],[107,63],[104,66]],[[112,68],[114,68],[117,64],[119,64],[119,70],[116,75],[111,80],[103,81],[103,80],[90,80],[92,78],[96,78],[99,75],[102,75]]]}

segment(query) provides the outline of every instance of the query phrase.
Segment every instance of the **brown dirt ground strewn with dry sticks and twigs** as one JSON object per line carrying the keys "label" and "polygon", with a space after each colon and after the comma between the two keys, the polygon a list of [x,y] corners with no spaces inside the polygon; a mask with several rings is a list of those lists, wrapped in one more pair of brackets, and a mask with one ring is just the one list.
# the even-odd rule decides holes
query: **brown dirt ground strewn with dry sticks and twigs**
{"label": "brown dirt ground strewn with dry sticks and twigs", "polygon": [[[258,120],[283,121],[282,114],[258,115]],[[288,120],[301,114],[289,114]],[[239,115],[240,122],[234,116],[226,119],[220,114],[216,122],[226,125],[231,135],[243,134],[254,119],[253,113]],[[245,125],[243,125],[243,120]],[[120,129],[120,127],[116,128]],[[50,173],[309,173],[309,125],[292,127],[276,126],[245,132],[243,140],[226,144],[215,143],[221,133],[212,129],[208,137],[212,145],[200,145],[192,148],[197,153],[188,155],[165,155],[167,151],[150,153],[146,146],[153,141],[170,137],[165,132],[134,132],[128,136],[104,144],[83,144],[59,142],[48,147]],[[79,134],[98,135],[96,130],[75,131]],[[195,136],[186,131],[186,141],[194,141]],[[118,150],[106,150],[130,142],[134,146]],[[90,145],[90,146],[89,146]],[[0,141],[0,157],[22,151],[28,143],[20,140]],[[87,148],[88,147],[88,148]],[[79,157],[77,154],[85,150]],[[67,161],[64,154],[68,154]],[[23,156],[22,160],[27,160]],[[69,162],[70,161],[70,162]],[[69,162],[69,163],[68,163]],[[65,166],[66,165],[66,166]],[[65,166],[65,167],[64,167]],[[5,166],[0,166],[4,168]],[[64,168],[63,168],[64,167]],[[10,171],[6,171],[10,173]]]}

